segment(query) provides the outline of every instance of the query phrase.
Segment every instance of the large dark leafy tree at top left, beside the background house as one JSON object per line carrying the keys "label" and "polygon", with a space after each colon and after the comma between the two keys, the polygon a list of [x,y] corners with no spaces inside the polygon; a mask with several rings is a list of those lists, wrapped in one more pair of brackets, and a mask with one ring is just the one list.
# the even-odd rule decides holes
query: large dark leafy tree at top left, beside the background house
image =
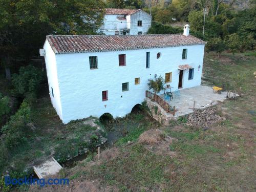
{"label": "large dark leafy tree at top left, beside the background house", "polygon": [[104,7],[103,0],[0,0],[1,66],[38,56],[46,35],[96,34]]}

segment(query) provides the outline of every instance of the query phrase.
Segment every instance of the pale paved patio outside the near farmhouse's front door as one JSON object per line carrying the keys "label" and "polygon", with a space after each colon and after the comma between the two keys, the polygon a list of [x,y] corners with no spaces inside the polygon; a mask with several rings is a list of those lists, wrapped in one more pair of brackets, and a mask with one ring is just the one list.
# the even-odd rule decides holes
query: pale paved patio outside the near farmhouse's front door
{"label": "pale paved patio outside the near farmhouse's front door", "polygon": [[[173,99],[170,101],[166,99],[164,94],[159,95],[165,101],[167,101],[170,105],[175,106],[176,113],[174,118],[177,118],[182,115],[186,115],[189,113],[193,113],[193,105],[195,103],[195,109],[203,109],[207,106],[217,104],[219,101],[224,101],[227,96],[227,92],[221,92],[221,94],[213,93],[211,87],[208,86],[197,86],[193,88],[179,90],[179,93],[172,92]],[[233,96],[231,93],[230,96]],[[173,116],[166,114],[166,116]]]}

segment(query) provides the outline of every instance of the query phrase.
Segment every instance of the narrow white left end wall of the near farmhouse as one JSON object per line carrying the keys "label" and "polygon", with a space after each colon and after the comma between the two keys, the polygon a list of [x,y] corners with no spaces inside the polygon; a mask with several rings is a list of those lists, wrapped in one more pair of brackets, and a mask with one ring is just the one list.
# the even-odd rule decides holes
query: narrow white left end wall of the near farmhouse
{"label": "narrow white left end wall of the near farmhouse", "polygon": [[[49,94],[51,97],[51,102],[56,110],[60,119],[62,119],[62,110],[61,110],[61,102],[60,102],[60,92],[59,92],[59,84],[58,84],[58,74],[57,74],[57,66],[56,66],[56,57],[53,52],[48,40],[46,40],[44,45],[45,50],[45,62],[46,62],[46,71],[48,78],[48,86],[49,86]],[[52,95],[52,89],[53,94]]]}

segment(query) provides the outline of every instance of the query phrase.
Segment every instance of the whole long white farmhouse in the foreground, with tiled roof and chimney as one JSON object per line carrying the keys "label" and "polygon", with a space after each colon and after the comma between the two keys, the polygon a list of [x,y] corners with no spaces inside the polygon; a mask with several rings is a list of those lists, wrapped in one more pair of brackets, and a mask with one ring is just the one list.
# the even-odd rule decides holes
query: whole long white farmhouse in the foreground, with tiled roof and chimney
{"label": "whole long white farmhouse in the foreground, with tiled roof and chimney", "polygon": [[205,42],[188,34],[49,35],[44,50],[52,104],[63,123],[130,113],[148,79],[172,90],[201,84]]}

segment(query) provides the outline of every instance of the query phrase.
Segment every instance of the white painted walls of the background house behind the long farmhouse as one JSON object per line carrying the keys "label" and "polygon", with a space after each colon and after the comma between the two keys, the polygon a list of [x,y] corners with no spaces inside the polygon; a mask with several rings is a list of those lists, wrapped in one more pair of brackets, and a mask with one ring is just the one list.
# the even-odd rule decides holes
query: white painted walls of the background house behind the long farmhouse
{"label": "white painted walls of the background house behind the long farmhouse", "polygon": [[[120,19],[120,17],[125,19]],[[142,26],[138,26],[138,20],[142,21]],[[152,16],[143,10],[139,10],[131,15],[105,14],[104,24],[100,27],[99,31],[105,35],[115,35],[115,31],[118,31],[119,35],[138,35],[139,32],[147,34],[148,29],[151,27],[151,20]]]}

